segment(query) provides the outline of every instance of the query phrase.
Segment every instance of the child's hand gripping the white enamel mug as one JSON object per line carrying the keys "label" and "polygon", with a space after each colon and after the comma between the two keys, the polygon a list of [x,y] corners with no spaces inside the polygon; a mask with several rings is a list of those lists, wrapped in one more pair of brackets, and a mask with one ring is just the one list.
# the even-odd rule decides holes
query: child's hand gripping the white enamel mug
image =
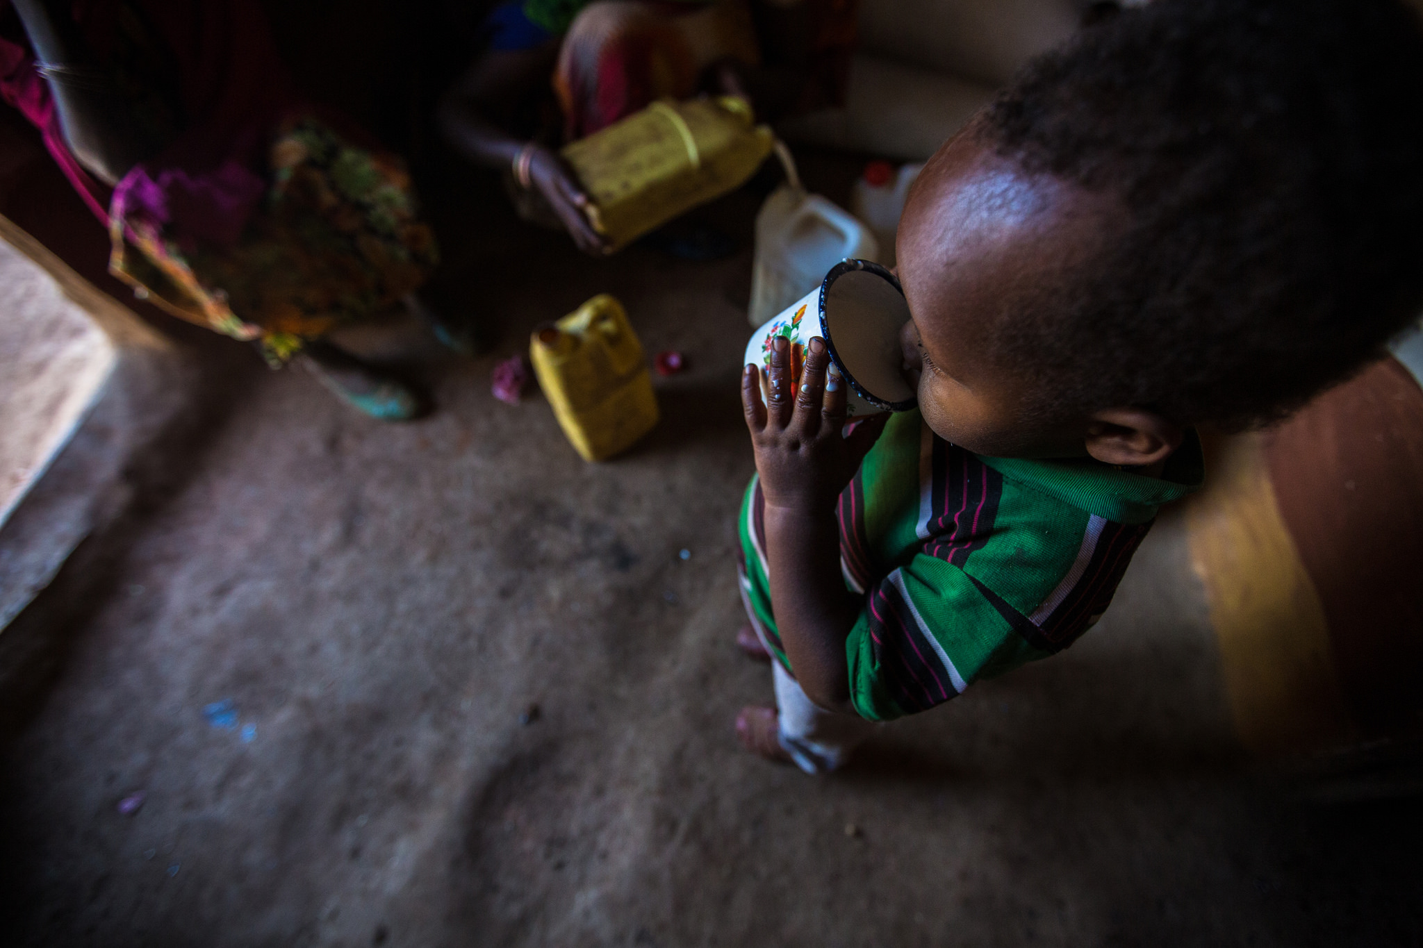
{"label": "child's hand gripping the white enamel mug", "polygon": [[888,415],[869,418],[842,438],[847,382],[838,371],[830,371],[827,381],[832,367],[825,341],[818,335],[810,341],[801,388],[794,397],[790,362],[790,341],[773,340],[770,397],[764,404],[760,370],[747,365],[741,372],[741,406],[756,448],[761,493],[767,507],[828,513],[879,438]]}

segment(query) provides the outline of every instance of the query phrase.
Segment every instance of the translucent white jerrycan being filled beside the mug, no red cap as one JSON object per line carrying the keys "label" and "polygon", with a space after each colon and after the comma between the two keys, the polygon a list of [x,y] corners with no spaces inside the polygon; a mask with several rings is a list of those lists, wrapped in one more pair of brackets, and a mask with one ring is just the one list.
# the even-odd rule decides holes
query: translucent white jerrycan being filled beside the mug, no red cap
{"label": "translucent white jerrycan being filled beside the mug, no red cap", "polygon": [[847,257],[875,260],[879,246],[850,212],[820,195],[808,195],[790,151],[776,142],[785,168],[777,188],[756,216],[756,263],[751,269],[751,325],[761,325],[801,298]]}

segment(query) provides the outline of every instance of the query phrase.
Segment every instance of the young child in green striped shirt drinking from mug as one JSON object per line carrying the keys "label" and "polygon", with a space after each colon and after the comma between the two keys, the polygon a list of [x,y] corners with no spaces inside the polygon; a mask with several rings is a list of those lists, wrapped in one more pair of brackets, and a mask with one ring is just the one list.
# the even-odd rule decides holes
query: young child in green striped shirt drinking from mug
{"label": "young child in green striped shirt drinking from mug", "polygon": [[832,770],[872,722],[1077,640],[1192,426],[1281,418],[1423,306],[1423,37],[1396,0],[1155,0],[1036,60],[919,176],[898,233],[918,409],[842,436],[813,340],[743,402],[741,590],[777,708]]}

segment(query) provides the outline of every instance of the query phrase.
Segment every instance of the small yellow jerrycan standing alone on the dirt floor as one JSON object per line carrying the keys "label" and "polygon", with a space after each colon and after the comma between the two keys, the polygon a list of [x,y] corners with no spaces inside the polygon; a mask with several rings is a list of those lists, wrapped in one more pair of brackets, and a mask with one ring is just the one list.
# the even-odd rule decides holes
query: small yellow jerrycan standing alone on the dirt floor
{"label": "small yellow jerrycan standing alone on the dirt floor", "polygon": [[657,424],[642,343],[622,303],[606,293],[536,330],[529,361],[558,424],[585,460],[616,455]]}

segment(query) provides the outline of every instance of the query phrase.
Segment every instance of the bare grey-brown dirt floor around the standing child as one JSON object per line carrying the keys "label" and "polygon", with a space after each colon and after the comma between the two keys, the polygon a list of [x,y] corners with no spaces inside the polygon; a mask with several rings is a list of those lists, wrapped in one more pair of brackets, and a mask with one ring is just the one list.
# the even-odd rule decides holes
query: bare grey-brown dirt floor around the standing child
{"label": "bare grey-brown dirt floor around the standing child", "polygon": [[[585,260],[497,198],[434,208],[495,350],[360,340],[434,414],[253,367],[174,459],[0,765],[0,941],[1419,944],[1416,804],[1322,807],[1242,758],[1171,513],[1062,657],[828,779],[740,752],[736,711],[771,696],[731,644],[750,253]],[[754,208],[712,217],[744,242]],[[490,371],[599,291],[692,368],[589,466]]]}

